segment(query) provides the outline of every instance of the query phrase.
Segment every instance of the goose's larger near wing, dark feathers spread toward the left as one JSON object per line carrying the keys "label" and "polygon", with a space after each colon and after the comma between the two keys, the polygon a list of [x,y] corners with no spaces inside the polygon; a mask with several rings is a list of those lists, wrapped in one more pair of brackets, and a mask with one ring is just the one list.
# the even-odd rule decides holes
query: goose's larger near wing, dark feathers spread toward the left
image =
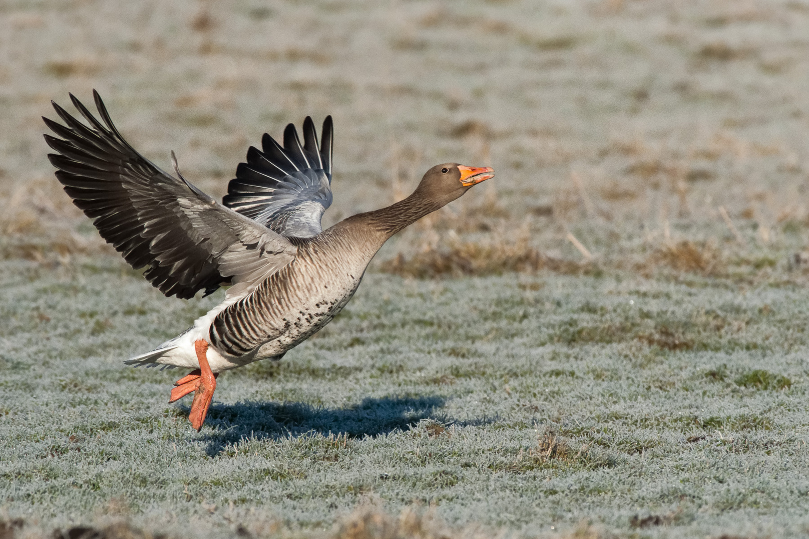
{"label": "goose's larger near wing, dark feathers spread toward the left", "polygon": [[[66,124],[48,118],[59,137],[45,135],[58,154],[49,154],[65,192],[101,236],[166,296],[193,297],[235,284],[244,292],[290,263],[297,249],[279,234],[225,208],[180,171],[176,179],[138,154],[112,124],[93,91],[102,124],[73,95],[89,127],[53,103]],[[172,154],[173,158],[173,154]]]}

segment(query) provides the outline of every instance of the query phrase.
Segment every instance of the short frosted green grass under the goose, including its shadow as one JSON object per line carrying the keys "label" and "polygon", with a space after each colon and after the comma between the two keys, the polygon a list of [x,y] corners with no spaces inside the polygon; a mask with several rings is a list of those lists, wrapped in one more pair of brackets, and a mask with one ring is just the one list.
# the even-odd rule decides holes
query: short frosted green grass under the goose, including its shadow
{"label": "short frosted green grass under the goose, including its shadow", "polygon": [[370,275],[280,363],[223,374],[197,434],[166,404],[178,371],[121,359],[215,297],[114,259],[3,274],[2,505],[45,528],[329,527],[362,499],[529,536],[809,526],[802,288]]}

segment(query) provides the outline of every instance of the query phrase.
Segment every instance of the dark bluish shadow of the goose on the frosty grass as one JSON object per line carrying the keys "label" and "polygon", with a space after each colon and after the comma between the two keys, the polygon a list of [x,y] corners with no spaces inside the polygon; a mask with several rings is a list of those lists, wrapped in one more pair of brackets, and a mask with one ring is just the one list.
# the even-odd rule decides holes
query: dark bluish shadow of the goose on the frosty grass
{"label": "dark bluish shadow of the goose on the frosty grass", "polygon": [[379,436],[407,430],[422,419],[447,423],[446,415],[440,411],[445,402],[443,397],[426,396],[365,398],[345,408],[311,406],[303,402],[214,403],[205,419],[205,424],[213,431],[208,431],[203,438],[205,452],[214,457],[227,445],[245,438],[278,440],[311,432]]}

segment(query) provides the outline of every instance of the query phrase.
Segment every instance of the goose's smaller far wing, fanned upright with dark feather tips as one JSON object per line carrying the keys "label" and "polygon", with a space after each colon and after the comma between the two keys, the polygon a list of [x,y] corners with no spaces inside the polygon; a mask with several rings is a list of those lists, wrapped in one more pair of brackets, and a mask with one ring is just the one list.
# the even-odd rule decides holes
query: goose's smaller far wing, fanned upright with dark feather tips
{"label": "goose's smaller far wing, fanned upright with dark feather tips", "polygon": [[222,204],[287,237],[311,238],[323,230],[320,217],[332,204],[332,116],[317,141],[315,124],[303,120],[303,145],[293,124],[284,145],[265,133],[262,150],[250,146]]}

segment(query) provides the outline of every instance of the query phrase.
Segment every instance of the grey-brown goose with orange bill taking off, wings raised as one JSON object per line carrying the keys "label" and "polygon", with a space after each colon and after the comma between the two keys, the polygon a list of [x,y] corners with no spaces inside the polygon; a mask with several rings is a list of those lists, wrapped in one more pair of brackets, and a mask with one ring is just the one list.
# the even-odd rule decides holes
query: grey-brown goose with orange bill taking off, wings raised
{"label": "grey-brown goose with orange bill taking off, wings raised", "polygon": [[229,286],[187,331],[125,361],[193,369],[175,382],[169,402],[194,393],[188,420],[197,432],[218,373],[281,359],[345,307],[388,238],[494,176],[490,166],[433,166],[404,200],[323,230],[321,217],[332,204],[331,116],[320,141],[308,116],[303,144],[293,124],[283,145],[265,133],[220,204],[180,174],[173,151],[176,177],[139,154],[95,90],[93,98],[101,121],[72,94],[86,124],[53,101],[64,125],[43,117],[57,135],[44,138],[57,152],[48,158],[67,195],[165,296],[188,299]]}

